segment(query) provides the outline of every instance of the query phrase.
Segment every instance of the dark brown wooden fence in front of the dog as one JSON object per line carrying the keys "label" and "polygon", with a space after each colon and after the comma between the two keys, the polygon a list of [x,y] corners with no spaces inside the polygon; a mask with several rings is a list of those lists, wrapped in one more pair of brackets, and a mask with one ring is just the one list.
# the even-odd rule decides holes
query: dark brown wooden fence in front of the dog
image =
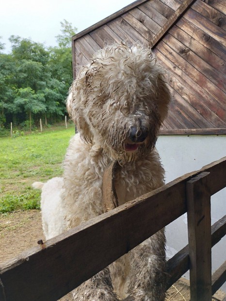
{"label": "dark brown wooden fence in front of the dog", "polygon": [[210,196],[224,187],[226,157],[21,253],[0,267],[0,300],[56,301],[188,211],[190,247],[168,261],[168,286],[190,268],[192,301],[211,301],[226,281],[225,263],[211,287],[210,250],[226,217],[210,227]]}

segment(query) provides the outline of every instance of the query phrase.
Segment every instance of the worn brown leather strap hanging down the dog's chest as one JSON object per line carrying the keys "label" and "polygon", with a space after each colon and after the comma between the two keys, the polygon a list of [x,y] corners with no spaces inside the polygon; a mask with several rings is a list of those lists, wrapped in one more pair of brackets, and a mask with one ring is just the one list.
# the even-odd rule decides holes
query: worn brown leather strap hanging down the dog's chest
{"label": "worn brown leather strap hanging down the dog's chest", "polygon": [[114,187],[114,175],[117,167],[118,162],[114,161],[104,171],[102,184],[102,207],[104,212],[118,207],[118,199]]}

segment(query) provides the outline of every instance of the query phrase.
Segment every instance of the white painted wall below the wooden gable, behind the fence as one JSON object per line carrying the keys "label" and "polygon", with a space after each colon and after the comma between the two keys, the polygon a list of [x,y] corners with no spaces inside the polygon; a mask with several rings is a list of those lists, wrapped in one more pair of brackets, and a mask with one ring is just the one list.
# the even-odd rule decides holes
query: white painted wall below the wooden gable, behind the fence
{"label": "white painted wall below the wooden gable, behind the fence", "polygon": [[[162,135],[156,144],[166,183],[226,156],[224,135]],[[226,188],[211,197],[211,223],[226,215]],[[166,227],[167,257],[188,244],[187,215]],[[212,273],[226,260],[226,237],[212,248]],[[189,279],[189,273],[185,274]],[[226,292],[226,283],[221,287]]]}

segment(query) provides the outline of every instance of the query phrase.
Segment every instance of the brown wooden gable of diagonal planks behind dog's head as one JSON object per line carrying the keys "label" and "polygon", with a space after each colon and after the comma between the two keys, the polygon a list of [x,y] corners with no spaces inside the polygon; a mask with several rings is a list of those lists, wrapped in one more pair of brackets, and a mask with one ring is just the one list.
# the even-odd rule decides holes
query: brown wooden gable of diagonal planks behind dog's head
{"label": "brown wooden gable of diagonal planks behind dog's head", "polygon": [[226,134],[225,0],[137,0],[75,35],[74,77],[104,46],[148,43],[169,72],[162,134]]}

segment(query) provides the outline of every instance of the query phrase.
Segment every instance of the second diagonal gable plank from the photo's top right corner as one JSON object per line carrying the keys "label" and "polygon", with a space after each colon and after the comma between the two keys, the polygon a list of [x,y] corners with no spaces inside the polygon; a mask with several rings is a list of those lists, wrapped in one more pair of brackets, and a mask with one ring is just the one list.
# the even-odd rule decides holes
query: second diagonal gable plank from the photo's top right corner
{"label": "second diagonal gable plank from the photo's top right corner", "polygon": [[209,19],[212,23],[226,30],[226,16],[214,9],[202,0],[196,0],[192,5],[192,9],[203,17]]}

